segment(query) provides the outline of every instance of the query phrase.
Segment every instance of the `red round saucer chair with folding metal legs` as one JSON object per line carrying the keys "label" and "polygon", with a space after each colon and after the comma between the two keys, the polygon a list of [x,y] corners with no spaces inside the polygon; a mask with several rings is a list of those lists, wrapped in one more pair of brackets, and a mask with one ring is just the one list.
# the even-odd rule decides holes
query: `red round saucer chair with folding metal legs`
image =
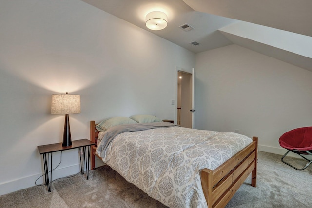
{"label": "red round saucer chair with folding metal legs", "polygon": [[[291,166],[296,170],[304,170],[312,163],[312,160],[309,160],[303,156],[312,155],[312,127],[301,127],[293,129],[284,133],[278,141],[281,147],[288,150],[281,159],[283,163]],[[290,151],[300,155],[309,162],[301,169],[285,162],[283,159]]]}

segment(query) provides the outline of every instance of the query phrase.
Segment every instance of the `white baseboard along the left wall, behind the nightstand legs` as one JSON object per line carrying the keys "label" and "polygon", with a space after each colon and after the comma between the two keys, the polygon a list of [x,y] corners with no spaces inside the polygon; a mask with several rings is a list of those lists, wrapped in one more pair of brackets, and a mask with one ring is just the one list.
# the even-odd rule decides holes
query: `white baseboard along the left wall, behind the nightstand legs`
{"label": "white baseboard along the left wall, behind the nightstand legs", "polygon": [[[79,172],[80,172],[80,164],[56,169],[52,171],[52,180],[55,180],[61,177],[74,175]],[[23,178],[19,178],[19,179],[12,180],[12,181],[7,181],[7,182],[0,184],[0,196],[17,191],[17,190],[36,186],[35,181],[37,180],[37,178],[39,178],[43,174],[44,173],[38,173],[35,175],[26,176]],[[45,183],[44,175],[41,178],[39,178],[39,180],[37,181],[37,184],[43,184],[43,183]]]}

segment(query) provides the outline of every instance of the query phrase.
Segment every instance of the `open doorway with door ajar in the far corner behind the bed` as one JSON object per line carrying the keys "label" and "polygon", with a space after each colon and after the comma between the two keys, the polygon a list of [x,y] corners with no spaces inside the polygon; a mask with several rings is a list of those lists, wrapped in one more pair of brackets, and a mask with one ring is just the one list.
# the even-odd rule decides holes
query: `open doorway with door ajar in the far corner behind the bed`
{"label": "open doorway with door ajar in the far corner behind the bed", "polygon": [[193,75],[177,71],[177,124],[193,128]]}

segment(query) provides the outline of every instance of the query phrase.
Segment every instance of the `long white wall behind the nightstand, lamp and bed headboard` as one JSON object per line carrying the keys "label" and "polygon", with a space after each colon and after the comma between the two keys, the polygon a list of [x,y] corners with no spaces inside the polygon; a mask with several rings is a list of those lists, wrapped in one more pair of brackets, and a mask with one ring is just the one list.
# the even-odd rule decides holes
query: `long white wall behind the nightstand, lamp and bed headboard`
{"label": "long white wall behind the nightstand, lamp and bed headboard", "polygon": [[[34,186],[37,146],[61,142],[52,94],[81,95],[71,135],[89,138],[90,120],[174,119],[175,67],[195,66],[194,53],[80,0],[1,1],[0,28],[0,195]],[[64,151],[53,178],[78,171],[78,151]]]}

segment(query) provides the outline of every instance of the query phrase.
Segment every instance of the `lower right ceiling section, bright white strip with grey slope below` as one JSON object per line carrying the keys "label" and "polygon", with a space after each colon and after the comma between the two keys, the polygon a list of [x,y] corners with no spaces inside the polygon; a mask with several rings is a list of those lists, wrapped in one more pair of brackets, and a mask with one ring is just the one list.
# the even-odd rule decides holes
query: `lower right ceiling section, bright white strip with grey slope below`
{"label": "lower right ceiling section, bright white strip with grey slope below", "polygon": [[312,71],[312,37],[240,21],[219,29],[234,44]]}

